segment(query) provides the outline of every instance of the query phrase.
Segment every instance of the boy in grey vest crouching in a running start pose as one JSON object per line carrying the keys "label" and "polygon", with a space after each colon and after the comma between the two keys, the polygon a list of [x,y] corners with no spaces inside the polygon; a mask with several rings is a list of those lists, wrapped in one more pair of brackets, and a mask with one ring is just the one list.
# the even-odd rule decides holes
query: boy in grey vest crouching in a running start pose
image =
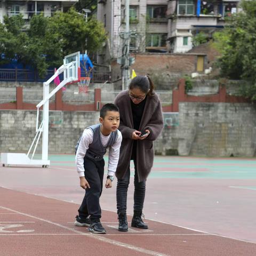
{"label": "boy in grey vest crouching in a running start pose", "polygon": [[[116,166],[119,159],[119,149],[122,134],[118,131],[120,117],[119,109],[112,103],[107,103],[100,110],[100,124],[87,127],[76,152],[76,167],[80,178],[80,186],[86,193],[78,209],[75,226],[90,227],[89,231],[106,234],[102,227],[100,195],[103,185],[104,159],[109,148],[108,176],[105,187],[111,188]],[[89,218],[90,215],[90,218]]]}

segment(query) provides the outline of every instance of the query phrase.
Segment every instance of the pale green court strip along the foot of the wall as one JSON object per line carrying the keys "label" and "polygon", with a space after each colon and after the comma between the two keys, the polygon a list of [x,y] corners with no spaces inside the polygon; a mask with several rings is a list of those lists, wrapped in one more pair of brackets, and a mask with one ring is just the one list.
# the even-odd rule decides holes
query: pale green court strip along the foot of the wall
{"label": "pale green court strip along the foot of the wall", "polygon": [[[52,166],[75,167],[75,155],[49,155],[49,159]],[[104,159],[107,163],[108,157]],[[155,156],[150,178],[256,179],[256,159]]]}

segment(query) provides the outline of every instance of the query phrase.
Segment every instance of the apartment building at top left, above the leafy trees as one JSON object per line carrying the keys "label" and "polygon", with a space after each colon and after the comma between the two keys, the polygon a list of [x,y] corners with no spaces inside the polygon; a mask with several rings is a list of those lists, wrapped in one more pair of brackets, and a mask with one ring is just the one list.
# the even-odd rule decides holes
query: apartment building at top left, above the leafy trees
{"label": "apartment building at top left, above the leafy trees", "polygon": [[0,22],[3,22],[5,15],[13,16],[22,14],[23,19],[28,21],[34,14],[44,13],[44,17],[51,17],[56,11],[66,11],[78,0],[69,1],[22,1],[2,0],[0,1]]}

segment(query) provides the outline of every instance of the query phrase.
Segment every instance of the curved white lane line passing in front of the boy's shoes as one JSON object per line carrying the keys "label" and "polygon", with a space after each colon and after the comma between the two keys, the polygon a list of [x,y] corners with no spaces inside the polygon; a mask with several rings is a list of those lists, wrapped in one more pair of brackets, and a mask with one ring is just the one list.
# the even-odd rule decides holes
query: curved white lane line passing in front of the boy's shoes
{"label": "curved white lane line passing in front of the boy's shoes", "polygon": [[[49,221],[49,220],[45,220],[45,219],[38,218],[38,217],[35,217],[35,216],[33,216],[33,215],[30,215],[30,214],[26,214],[26,213],[23,213],[23,212],[19,212],[19,211],[12,210],[12,209],[7,208],[7,207],[4,207],[4,206],[0,206],[0,208],[1,208],[1,209],[5,209],[5,210],[9,210],[9,211],[11,211],[11,212],[19,213],[19,214],[21,214],[21,215],[24,215],[24,216],[27,216],[27,217],[30,217],[30,218],[34,218],[34,219],[37,219],[37,220],[41,220],[41,221],[50,223],[50,224],[52,224],[52,225],[55,225],[55,226],[60,227],[60,228],[67,229],[67,230],[72,231],[72,232],[77,233],[77,234],[81,234],[81,235],[84,235],[84,234],[85,234],[85,233],[83,233],[83,232],[81,232],[81,231],[75,230],[74,228],[69,228],[69,227],[60,225],[60,224],[58,224],[58,223]],[[159,252],[147,250],[147,249],[144,249],[144,248],[141,248],[141,247],[133,246],[133,245],[130,245],[130,244],[126,244],[126,243],[122,243],[122,242],[117,242],[117,241],[114,241],[114,240],[111,240],[111,239],[109,239],[109,238],[104,237],[104,235],[101,236],[101,235],[90,234],[90,237],[91,237],[91,238],[94,238],[94,239],[97,239],[98,241],[101,241],[101,242],[105,242],[105,243],[108,243],[108,244],[113,244],[113,245],[116,245],[116,246],[120,246],[120,247],[123,247],[123,248],[126,248],[126,249],[133,250],[133,251],[145,253],[145,254],[148,254],[148,255],[153,255],[153,256],[168,256],[167,254],[164,254],[164,253],[159,253]]]}

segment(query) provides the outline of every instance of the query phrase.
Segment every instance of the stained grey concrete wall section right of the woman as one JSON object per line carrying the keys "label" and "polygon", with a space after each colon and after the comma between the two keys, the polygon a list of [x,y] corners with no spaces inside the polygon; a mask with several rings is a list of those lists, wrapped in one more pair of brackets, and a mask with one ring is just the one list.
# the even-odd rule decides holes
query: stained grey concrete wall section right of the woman
{"label": "stained grey concrete wall section right of the woman", "polygon": [[165,126],[156,150],[181,156],[255,156],[256,108],[250,103],[180,102],[179,125]]}

